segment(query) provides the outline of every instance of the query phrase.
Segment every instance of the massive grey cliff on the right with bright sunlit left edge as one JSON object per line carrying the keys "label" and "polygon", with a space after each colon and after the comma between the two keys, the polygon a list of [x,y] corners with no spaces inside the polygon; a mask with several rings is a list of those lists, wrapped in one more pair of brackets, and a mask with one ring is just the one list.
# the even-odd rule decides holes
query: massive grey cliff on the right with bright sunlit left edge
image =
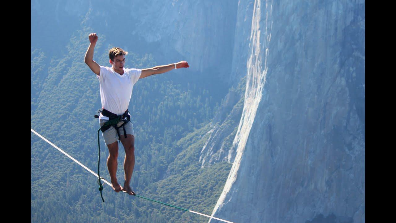
{"label": "massive grey cliff on the right with bright sunlit left edge", "polygon": [[213,215],[364,222],[365,2],[257,0],[252,18],[236,157]]}

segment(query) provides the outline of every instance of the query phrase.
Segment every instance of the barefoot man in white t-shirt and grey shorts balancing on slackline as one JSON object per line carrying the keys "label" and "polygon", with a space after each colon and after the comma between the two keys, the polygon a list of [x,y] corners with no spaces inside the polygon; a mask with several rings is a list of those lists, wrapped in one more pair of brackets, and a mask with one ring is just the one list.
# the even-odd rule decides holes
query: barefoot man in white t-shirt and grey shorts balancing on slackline
{"label": "barefoot man in white t-shirt and grey shorts balancing on slackline", "polygon": [[[111,67],[100,66],[93,60],[93,49],[95,48],[98,36],[96,33],[88,35],[89,47],[85,54],[85,63],[91,68],[93,73],[97,75],[100,86],[100,96],[103,112],[99,116],[99,123],[101,127],[109,121],[109,117],[103,115],[124,115],[128,117],[128,105],[131,100],[133,85],[141,78],[145,78],[154,74],[160,74],[168,72],[172,69],[179,69],[182,67],[190,67],[187,62],[181,61],[178,63],[171,63],[168,65],[156,66],[147,69],[126,69],[125,56],[128,52],[121,48],[112,48],[109,51],[109,63]],[[123,117],[124,117],[123,116]],[[124,125],[123,125],[124,124]],[[112,188],[115,192],[124,190],[130,195],[135,195],[129,185],[133,167],[135,166],[135,134],[133,132],[133,125],[130,121],[120,121],[117,124],[116,129],[111,126],[106,131],[103,131],[102,135],[105,139],[105,143],[109,148],[109,157],[107,158],[107,168],[111,178]],[[123,125],[121,127],[121,125]],[[122,136],[122,137],[121,137]],[[126,137],[125,137],[126,136]],[[124,159],[124,186],[122,187],[116,177],[117,172],[117,157],[118,157],[118,144],[117,140],[120,139],[125,149]]]}

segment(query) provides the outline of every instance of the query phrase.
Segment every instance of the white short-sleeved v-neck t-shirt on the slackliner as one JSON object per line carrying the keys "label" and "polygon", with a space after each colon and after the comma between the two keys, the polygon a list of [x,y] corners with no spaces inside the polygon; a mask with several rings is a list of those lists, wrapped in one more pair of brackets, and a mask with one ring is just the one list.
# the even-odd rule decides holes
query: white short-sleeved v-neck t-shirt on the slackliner
{"label": "white short-sleeved v-neck t-shirt on the slackliner", "polygon": [[[139,80],[141,73],[141,69],[124,67],[124,74],[120,75],[112,67],[100,66],[100,75],[96,77],[99,79],[102,108],[116,115],[124,114],[131,100],[133,85]],[[100,113],[99,119],[109,120],[109,117]]]}

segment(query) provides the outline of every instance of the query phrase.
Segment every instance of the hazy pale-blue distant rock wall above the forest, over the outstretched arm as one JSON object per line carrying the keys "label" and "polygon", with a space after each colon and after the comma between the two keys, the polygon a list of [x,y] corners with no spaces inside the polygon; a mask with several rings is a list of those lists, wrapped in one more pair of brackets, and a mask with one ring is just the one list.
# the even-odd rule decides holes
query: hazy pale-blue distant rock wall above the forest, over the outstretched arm
{"label": "hazy pale-blue distant rock wall above the forest, over the outstretched arm", "polygon": [[187,58],[194,71],[223,70],[222,75],[227,77],[237,4],[236,0],[135,2],[136,7],[132,7],[137,10],[131,16],[137,27],[133,34],[141,35],[149,43],[160,41],[158,50],[176,50]]}

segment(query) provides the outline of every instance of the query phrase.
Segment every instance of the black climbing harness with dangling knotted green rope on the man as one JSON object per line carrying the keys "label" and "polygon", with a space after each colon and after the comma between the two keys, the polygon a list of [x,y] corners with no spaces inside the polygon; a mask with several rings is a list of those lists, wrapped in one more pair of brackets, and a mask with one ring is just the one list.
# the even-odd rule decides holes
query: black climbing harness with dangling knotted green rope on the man
{"label": "black climbing harness with dangling knotted green rope on the man", "polygon": [[[100,142],[99,142],[99,132],[102,131],[105,132],[107,129],[109,129],[110,127],[114,127],[114,129],[116,129],[117,131],[117,135],[118,138],[120,139],[120,132],[118,131],[119,128],[123,128],[124,129],[124,137],[126,138],[126,131],[125,131],[125,124],[128,123],[128,121],[131,121],[131,116],[128,114],[128,109],[124,112],[124,114],[122,115],[116,115],[112,112],[109,112],[108,110],[101,108],[98,110],[98,113],[102,113],[102,115],[109,117],[109,121],[105,122],[99,129],[98,129],[98,151],[99,151],[99,155],[98,155],[98,180],[97,183],[99,184],[99,191],[100,191],[100,196],[102,198],[102,201],[105,202],[105,199],[103,199],[103,195],[102,195],[102,190],[103,190],[103,185],[105,183],[102,184],[101,179],[103,179],[103,177],[100,177],[99,174],[99,164],[100,164]],[[95,118],[99,118],[99,115],[94,115]],[[124,123],[122,123],[122,125],[120,125],[119,127],[117,126],[117,124],[120,121],[124,121]],[[118,142],[120,143],[120,142]]]}

